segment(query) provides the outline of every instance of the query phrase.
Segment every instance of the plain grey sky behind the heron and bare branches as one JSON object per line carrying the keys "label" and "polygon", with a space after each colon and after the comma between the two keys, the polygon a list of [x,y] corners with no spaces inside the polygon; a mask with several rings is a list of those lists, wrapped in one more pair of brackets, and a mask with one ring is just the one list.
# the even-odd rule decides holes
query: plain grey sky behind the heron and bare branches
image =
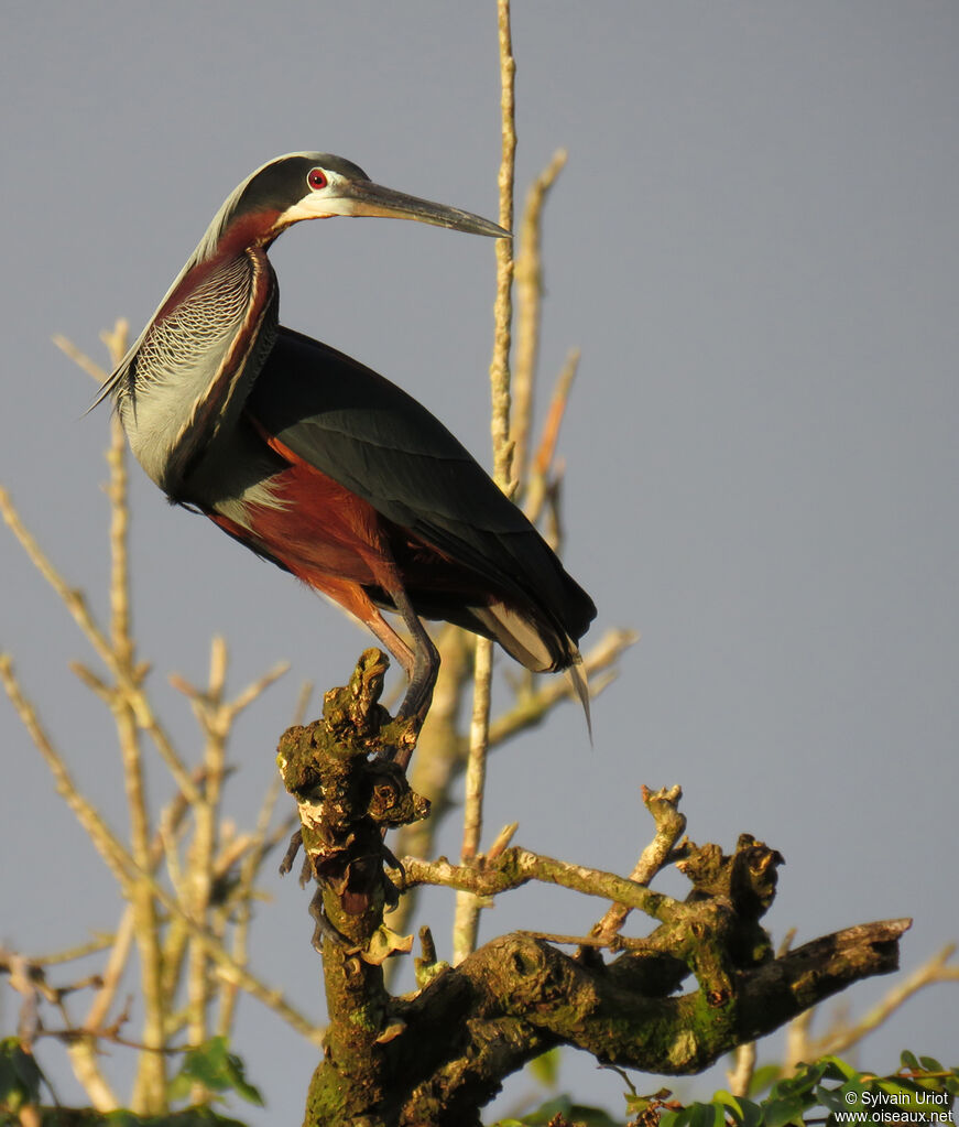
{"label": "plain grey sky behind the heron and bare branches", "polygon": [[[51,335],[101,355],[117,316],[139,331],[225,195],[290,150],[495,216],[495,6],[7,0],[0,20],[0,481],[103,610],[106,412],[82,417],[90,382]],[[594,706],[592,751],[568,711],[494,763],[488,825],[518,819],[531,849],[628,871],[648,836],[639,786],[681,782],[694,840],[749,831],[785,855],[776,939],[913,915],[914,967],[959,938],[959,8],[525,0],[514,41],[522,189],[569,150],[542,354],[545,388],[583,349],[565,560],[597,636],[642,638]],[[339,221],[272,257],[285,323],[400,383],[488,463],[488,241]],[[366,638],[139,469],[133,492],[142,656],[183,738],[166,676],[202,676],[213,633],[234,687],[294,663],[234,746],[249,818],[299,682],[341,683]],[[119,819],[108,720],[66,671],[82,641],[6,534],[0,559],[0,647]],[[109,925],[112,884],[2,702],[0,730],[3,849],[19,850],[0,940],[48,950]],[[451,824],[443,848],[456,840]],[[309,996],[308,897],[273,891],[255,965]],[[442,939],[446,898],[428,903]],[[483,935],[596,914],[524,890]],[[890,985],[845,1000],[859,1013]],[[953,1056],[956,1002],[954,986],[914,1000],[860,1063]],[[237,1049],[269,1100],[251,1121],[295,1121],[309,1048],[248,1003]],[[622,1110],[619,1079],[585,1059],[563,1082]]]}

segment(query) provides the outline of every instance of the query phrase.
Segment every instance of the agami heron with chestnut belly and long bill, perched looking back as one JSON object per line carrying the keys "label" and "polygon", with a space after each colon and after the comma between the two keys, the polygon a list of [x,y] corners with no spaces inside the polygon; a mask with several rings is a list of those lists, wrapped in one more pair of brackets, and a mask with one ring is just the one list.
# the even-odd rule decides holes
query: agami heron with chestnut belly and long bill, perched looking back
{"label": "agami heron with chestnut belly and long bill, perched looking back", "polygon": [[373,631],[409,678],[401,716],[425,716],[439,666],[420,618],[494,638],[529,669],[571,669],[585,706],[577,642],[595,606],[523,513],[415,399],[279,325],[267,250],[334,215],[507,234],[340,157],[279,157],[227,198],[103,394],[171,502]]}

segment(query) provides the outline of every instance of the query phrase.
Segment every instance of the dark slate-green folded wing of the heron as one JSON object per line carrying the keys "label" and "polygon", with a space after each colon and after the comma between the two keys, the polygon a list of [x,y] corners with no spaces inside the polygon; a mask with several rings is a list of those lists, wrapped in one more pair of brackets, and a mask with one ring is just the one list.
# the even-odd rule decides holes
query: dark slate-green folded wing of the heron
{"label": "dark slate-green folded wing of the heron", "polygon": [[523,513],[425,407],[327,345],[279,329],[247,410],[296,458],[572,639],[589,596]]}

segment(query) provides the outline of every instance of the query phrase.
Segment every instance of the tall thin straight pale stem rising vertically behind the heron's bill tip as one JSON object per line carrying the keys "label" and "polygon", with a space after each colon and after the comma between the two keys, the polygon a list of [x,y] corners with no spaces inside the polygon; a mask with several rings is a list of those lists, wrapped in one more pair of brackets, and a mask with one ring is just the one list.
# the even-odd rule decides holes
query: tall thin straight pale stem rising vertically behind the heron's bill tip
{"label": "tall thin straight pale stem rising vertically behind the heron's bill tip", "polygon": [[[513,36],[509,26],[509,0],[497,0],[499,29],[500,76],[500,132],[501,157],[499,162],[499,225],[513,229],[513,185],[516,168],[516,113]],[[513,248],[512,240],[496,243],[496,302],[494,314],[492,361],[490,363],[490,392],[492,401],[492,467],[494,480],[512,496],[515,482],[510,478],[513,454],[509,441],[509,348],[513,326]],[[477,639],[473,712],[470,725],[470,749],[467,760],[467,793],[463,816],[464,861],[479,853],[482,840],[482,798],[486,786],[486,756],[489,747],[490,686],[492,681],[492,642]],[[453,959],[459,962],[476,948],[481,900],[470,893],[459,893],[453,922]]]}

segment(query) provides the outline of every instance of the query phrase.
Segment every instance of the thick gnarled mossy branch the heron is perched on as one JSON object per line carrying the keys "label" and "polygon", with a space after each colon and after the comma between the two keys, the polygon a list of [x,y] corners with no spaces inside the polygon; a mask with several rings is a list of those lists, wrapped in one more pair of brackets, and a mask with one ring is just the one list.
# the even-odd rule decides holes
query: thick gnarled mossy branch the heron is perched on
{"label": "thick gnarled mossy branch the heron is perched on", "polygon": [[[281,742],[307,872],[319,885],[314,943],[330,1018],[307,1125],[478,1124],[503,1080],[556,1045],[652,1073],[699,1072],[851,983],[896,969],[905,920],[846,929],[775,958],[760,921],[782,858],[748,834],[730,854],[678,842],[678,788],[643,790],[656,834],[634,870],[641,880],[518,846],[471,864],[397,861],[385,831],[425,817],[428,804],[396,763],[415,734],[379,703],[385,667],[382,653],[367,650],[349,685],[327,694],[323,718]],[[647,887],[669,863],[691,882],[683,900]],[[517,932],[446,967],[427,938],[423,988],[410,997],[388,992],[383,961],[409,949],[383,924],[400,895],[435,884],[488,897],[530,880],[615,907],[574,955]],[[628,911],[658,926],[622,935]]]}

